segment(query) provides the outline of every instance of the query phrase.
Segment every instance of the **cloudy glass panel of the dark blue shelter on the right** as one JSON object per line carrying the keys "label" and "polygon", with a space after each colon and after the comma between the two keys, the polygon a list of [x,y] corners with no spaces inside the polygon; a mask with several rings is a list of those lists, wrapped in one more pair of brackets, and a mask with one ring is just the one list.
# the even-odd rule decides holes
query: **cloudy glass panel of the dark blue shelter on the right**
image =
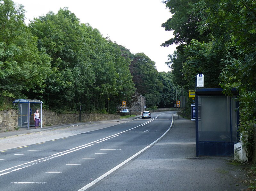
{"label": "cloudy glass panel of the dark blue shelter on the right", "polygon": [[198,140],[235,142],[235,108],[235,99],[228,96],[198,96]]}

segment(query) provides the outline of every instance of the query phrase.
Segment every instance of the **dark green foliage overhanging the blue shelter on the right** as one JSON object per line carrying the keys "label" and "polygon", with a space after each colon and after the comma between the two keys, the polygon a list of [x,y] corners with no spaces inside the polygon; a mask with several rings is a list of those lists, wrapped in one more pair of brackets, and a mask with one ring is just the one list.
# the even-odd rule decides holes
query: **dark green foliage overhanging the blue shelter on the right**
{"label": "dark green foliage overhanging the blue shelter on the right", "polygon": [[[169,55],[174,82],[192,89],[195,74],[205,75],[205,87],[239,91],[239,130],[252,156],[256,123],[256,2],[247,0],[166,0],[173,14],[162,26],[175,37],[162,46],[182,43]],[[245,140],[244,140],[245,141]]]}

